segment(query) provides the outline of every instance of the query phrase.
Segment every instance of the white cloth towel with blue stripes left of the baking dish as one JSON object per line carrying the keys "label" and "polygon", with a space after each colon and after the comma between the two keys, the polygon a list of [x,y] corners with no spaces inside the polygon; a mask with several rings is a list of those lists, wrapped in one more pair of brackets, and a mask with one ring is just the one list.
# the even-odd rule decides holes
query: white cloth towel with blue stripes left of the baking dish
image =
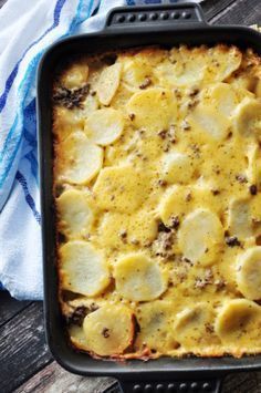
{"label": "white cloth towel with blue stripes left of the baking dish", "polygon": [[58,39],[101,29],[112,7],[159,2],[9,0],[0,10],[0,281],[17,299],[43,297],[35,118],[39,60]]}

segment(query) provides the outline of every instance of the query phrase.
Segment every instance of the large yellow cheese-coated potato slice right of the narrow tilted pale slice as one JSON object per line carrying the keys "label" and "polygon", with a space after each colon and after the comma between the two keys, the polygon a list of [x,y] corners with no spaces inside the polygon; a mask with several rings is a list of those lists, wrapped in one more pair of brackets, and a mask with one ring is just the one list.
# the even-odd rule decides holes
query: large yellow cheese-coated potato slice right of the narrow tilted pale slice
{"label": "large yellow cheese-coated potato slice right of the narrow tilted pale slice", "polygon": [[132,96],[127,103],[127,113],[134,115],[136,127],[166,130],[176,120],[176,99],[170,90],[147,89]]}

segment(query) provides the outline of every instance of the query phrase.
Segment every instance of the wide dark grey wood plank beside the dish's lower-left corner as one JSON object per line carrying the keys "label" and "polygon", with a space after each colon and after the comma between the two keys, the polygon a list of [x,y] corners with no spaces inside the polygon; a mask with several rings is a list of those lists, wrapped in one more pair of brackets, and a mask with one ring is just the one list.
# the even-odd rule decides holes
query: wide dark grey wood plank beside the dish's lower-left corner
{"label": "wide dark grey wood plank beside the dish's lower-left corner", "polygon": [[42,303],[32,303],[0,328],[0,392],[12,392],[51,360]]}

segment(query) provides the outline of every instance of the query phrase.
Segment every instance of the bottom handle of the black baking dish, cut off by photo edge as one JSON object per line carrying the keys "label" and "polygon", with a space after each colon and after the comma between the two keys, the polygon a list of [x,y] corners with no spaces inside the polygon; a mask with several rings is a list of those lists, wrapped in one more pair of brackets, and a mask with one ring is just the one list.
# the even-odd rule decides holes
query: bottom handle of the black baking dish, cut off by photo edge
{"label": "bottom handle of the black baking dish, cut off by photo edge", "polygon": [[220,393],[221,379],[164,381],[164,382],[135,382],[121,381],[108,387],[104,393]]}

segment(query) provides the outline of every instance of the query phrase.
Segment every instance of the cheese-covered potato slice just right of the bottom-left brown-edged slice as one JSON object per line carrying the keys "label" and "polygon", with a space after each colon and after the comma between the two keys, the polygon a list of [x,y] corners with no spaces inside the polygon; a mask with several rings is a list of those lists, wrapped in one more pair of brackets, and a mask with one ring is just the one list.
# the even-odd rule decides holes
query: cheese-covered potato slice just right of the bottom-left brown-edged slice
{"label": "cheese-covered potato slice just right of the bottom-left brown-edged slice", "polygon": [[174,306],[171,301],[155,300],[140,304],[136,318],[140,331],[136,344],[143,344],[150,350],[160,352],[171,351],[177,347],[173,333]]}

